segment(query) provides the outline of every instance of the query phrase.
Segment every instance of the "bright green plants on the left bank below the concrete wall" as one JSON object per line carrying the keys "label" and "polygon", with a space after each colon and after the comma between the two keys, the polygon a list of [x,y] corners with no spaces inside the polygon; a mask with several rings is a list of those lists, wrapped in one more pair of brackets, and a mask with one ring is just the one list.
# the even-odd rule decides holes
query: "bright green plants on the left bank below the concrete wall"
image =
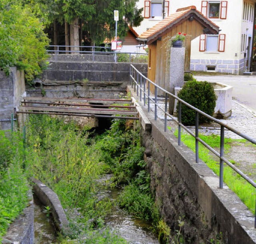
{"label": "bright green plants on the left bank below the concrete wall", "polygon": [[0,238],[28,204],[28,182],[22,170],[19,133],[7,137],[0,131]]}

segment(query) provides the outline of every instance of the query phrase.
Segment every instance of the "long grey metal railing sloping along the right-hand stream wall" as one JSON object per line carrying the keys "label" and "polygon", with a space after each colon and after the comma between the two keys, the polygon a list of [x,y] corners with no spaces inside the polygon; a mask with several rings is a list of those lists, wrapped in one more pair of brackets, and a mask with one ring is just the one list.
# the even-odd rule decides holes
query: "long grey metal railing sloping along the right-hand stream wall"
{"label": "long grey metal railing sloping along the right-hand stream wall", "polygon": [[[248,140],[249,142],[251,142],[253,144],[256,144],[256,140],[254,138],[251,138],[250,136],[247,136],[246,134],[243,134],[243,133],[239,132],[238,130],[235,130],[234,128],[226,125],[225,123],[221,122],[220,120],[218,120],[216,118],[213,118],[212,116],[210,116],[210,115],[202,112],[201,110],[195,108],[194,106],[188,104],[184,100],[178,98],[178,96],[175,96],[174,94],[166,91],[162,87],[156,85],[155,83],[150,81],[150,79],[148,79],[147,77],[142,75],[142,73],[140,73],[138,71],[138,69],[136,69],[133,65],[130,65],[130,81],[131,81],[131,84],[132,84],[132,88],[134,88],[134,92],[137,91],[137,96],[140,96],[140,101],[143,100],[144,101],[144,106],[146,106],[146,105],[148,106],[148,112],[150,112],[150,103],[154,104],[154,119],[155,120],[157,120],[157,111],[158,111],[158,109],[160,109],[162,112],[164,112],[164,132],[167,131],[167,117],[170,117],[174,122],[176,122],[178,124],[178,145],[179,146],[181,145],[181,128],[186,130],[186,132],[188,132],[190,135],[192,135],[195,138],[196,163],[199,163],[198,142],[203,144],[208,150],[210,150],[217,157],[219,157],[219,159],[220,159],[220,182],[219,182],[220,189],[223,189],[224,162],[229,167],[231,167],[234,171],[236,171],[236,173],[238,173],[242,178],[244,178],[246,181],[248,181],[248,183],[250,183],[254,188],[256,188],[256,183],[250,177],[248,177],[246,174],[244,174],[240,169],[238,169],[230,161],[228,161],[228,159],[226,159],[224,157],[224,137],[225,137],[224,136],[224,129],[226,128],[226,129],[234,132],[235,134],[241,136],[242,138]],[[150,97],[150,87],[154,87],[154,89],[155,89],[154,98]],[[165,94],[164,109],[161,106],[159,106],[159,104],[157,102],[158,101],[158,97],[157,97],[158,91],[162,91]],[[172,97],[172,98],[179,101],[179,103],[178,103],[179,104],[178,105],[179,106],[179,108],[178,108],[178,120],[176,119],[175,116],[169,114],[169,112],[167,111],[168,97]],[[189,108],[191,108],[192,110],[194,110],[196,112],[196,116],[195,116],[195,134],[189,128],[187,128],[186,126],[184,126],[182,124],[182,121],[181,121],[181,108],[182,108],[182,106],[181,106],[181,104],[184,104],[184,105],[188,106]],[[204,142],[202,139],[199,138],[199,126],[198,126],[199,114],[202,114],[206,118],[208,118],[211,121],[214,121],[214,122],[216,122],[217,124],[220,125],[220,153],[218,153],[216,150],[214,150],[214,148],[212,148],[211,146],[206,144],[206,142]],[[255,206],[255,212],[256,212],[256,206]],[[254,228],[256,228],[256,215],[255,215],[255,219],[254,219]]]}

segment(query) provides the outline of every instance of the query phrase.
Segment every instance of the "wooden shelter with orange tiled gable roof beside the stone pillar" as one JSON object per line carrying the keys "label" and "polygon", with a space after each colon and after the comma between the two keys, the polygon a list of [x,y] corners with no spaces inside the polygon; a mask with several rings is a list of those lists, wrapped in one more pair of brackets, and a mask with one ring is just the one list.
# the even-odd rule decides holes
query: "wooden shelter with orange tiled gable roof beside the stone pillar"
{"label": "wooden shelter with orange tiled gable roof beside the stone pillar", "polygon": [[190,68],[191,40],[201,34],[218,34],[219,27],[196,10],[195,6],[178,9],[155,26],[139,35],[138,40],[148,44],[148,79],[168,89],[170,38],[186,33],[184,45],[185,70]]}

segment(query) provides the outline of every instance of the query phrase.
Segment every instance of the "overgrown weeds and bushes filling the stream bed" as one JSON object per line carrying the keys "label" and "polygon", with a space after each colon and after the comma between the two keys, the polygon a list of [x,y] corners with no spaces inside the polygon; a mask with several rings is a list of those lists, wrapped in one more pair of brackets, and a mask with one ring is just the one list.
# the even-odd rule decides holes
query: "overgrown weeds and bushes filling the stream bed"
{"label": "overgrown weeds and bushes filling the stream bed", "polygon": [[90,138],[89,132],[74,123],[48,116],[30,116],[28,128],[26,167],[30,176],[57,193],[67,210],[71,231],[63,234],[92,243],[124,242],[103,228],[104,216],[112,206],[107,197],[99,200],[97,196],[103,187],[98,179],[105,173],[113,174],[112,186],[128,185],[119,199],[121,207],[147,220],[157,216],[134,122],[116,120],[110,130],[96,138]]}

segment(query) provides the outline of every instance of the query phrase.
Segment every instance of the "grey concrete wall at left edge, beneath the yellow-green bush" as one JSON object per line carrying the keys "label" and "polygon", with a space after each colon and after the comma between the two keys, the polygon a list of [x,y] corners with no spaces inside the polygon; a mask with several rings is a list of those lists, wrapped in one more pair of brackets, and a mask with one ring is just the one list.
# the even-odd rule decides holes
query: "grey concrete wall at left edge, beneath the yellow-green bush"
{"label": "grey concrete wall at left edge, beneath the yellow-green bush", "polygon": [[21,96],[25,94],[23,71],[12,67],[8,77],[4,71],[0,71],[0,130],[10,129],[11,114],[14,113],[14,108],[17,108]]}

